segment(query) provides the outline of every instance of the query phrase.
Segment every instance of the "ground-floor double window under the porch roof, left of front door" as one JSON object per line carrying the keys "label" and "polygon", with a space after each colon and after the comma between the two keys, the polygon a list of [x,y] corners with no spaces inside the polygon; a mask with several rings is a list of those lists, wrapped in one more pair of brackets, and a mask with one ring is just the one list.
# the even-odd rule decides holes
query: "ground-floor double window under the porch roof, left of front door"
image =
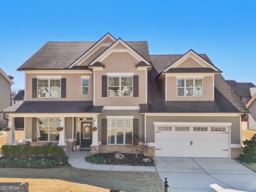
{"label": "ground-floor double window under the porch roof, left of front door", "polygon": [[38,141],[58,141],[60,132],[56,129],[60,126],[60,119],[38,119]]}

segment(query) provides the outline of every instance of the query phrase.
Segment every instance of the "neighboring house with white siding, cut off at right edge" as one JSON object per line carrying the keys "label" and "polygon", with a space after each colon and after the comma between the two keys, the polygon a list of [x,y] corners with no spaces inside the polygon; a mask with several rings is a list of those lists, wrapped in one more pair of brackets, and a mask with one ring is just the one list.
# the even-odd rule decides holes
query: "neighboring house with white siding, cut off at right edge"
{"label": "neighboring house with white siding, cut off at right edge", "polygon": [[[251,89],[252,91],[253,89]],[[248,114],[248,129],[256,130],[256,93],[254,92],[254,96],[251,100],[246,104],[246,107],[251,112]]]}

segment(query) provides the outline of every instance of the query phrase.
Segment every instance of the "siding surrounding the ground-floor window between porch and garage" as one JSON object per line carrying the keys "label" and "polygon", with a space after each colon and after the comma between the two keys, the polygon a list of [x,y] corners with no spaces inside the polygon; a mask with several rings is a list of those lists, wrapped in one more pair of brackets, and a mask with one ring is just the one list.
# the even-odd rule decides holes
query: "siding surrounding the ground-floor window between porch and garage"
{"label": "siding surrounding the ground-floor window between porch and garage", "polygon": [[140,114],[140,110],[103,110],[98,118],[99,141],[101,141],[101,120],[106,116],[134,116],[139,119],[139,137],[144,138],[144,114]]}

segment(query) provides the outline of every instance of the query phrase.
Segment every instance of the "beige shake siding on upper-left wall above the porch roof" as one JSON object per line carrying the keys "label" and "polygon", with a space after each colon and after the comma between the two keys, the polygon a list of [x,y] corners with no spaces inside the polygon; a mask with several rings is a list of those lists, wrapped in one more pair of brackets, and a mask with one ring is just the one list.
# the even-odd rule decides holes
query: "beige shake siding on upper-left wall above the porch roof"
{"label": "beige shake siding on upper-left wall above the porch roof", "polygon": [[[85,71],[86,72],[86,71]],[[62,76],[66,78],[66,98],[32,98],[32,78],[36,76]],[[90,76],[89,95],[82,95],[81,76]],[[92,101],[92,73],[26,74],[26,101]]]}

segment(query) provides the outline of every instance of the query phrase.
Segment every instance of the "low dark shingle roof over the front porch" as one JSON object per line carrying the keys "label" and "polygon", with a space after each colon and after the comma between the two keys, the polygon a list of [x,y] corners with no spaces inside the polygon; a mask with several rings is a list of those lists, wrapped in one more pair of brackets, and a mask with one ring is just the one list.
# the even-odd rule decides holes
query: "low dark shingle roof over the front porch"
{"label": "low dark shingle roof over the front porch", "polygon": [[4,113],[101,113],[103,106],[92,106],[92,101],[23,101]]}

